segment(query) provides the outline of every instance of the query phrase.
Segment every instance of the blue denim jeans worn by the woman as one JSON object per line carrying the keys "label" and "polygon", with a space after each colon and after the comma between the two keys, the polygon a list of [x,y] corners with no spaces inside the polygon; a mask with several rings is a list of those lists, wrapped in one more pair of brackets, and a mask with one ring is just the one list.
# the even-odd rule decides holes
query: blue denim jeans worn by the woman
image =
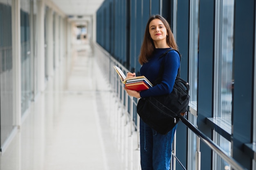
{"label": "blue denim jeans worn by the woman", "polygon": [[157,133],[140,119],[141,170],[170,170],[173,137],[177,125],[166,135]]}

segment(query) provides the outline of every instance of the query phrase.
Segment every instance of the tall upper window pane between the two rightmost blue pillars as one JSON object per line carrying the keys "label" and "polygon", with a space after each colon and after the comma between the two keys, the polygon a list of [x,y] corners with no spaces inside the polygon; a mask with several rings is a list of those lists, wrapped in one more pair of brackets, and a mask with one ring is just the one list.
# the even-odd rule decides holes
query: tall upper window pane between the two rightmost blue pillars
{"label": "tall upper window pane between the two rightmost blue pillars", "polygon": [[222,9],[220,117],[231,122],[234,0],[224,0]]}

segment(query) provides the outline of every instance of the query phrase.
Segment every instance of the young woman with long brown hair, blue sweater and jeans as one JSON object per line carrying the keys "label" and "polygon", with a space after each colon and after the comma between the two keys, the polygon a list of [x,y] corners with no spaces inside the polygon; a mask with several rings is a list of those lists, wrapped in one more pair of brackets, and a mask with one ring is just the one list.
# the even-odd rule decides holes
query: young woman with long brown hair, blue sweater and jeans
{"label": "young woman with long brown hair, blue sweater and jeans", "polygon": [[[139,63],[142,65],[140,74],[146,76],[150,82],[154,82],[160,67],[164,67],[162,82],[141,92],[125,88],[129,96],[145,98],[172,92],[180,67],[179,54],[171,50],[165,57],[159,58],[170,48],[177,50],[177,44],[168,22],[160,15],[151,16],[146,26],[139,55]],[[134,76],[136,76],[135,73],[128,72],[127,74],[127,78]],[[172,142],[176,128],[177,125],[166,135],[161,135],[140,119],[142,170],[170,170]]]}

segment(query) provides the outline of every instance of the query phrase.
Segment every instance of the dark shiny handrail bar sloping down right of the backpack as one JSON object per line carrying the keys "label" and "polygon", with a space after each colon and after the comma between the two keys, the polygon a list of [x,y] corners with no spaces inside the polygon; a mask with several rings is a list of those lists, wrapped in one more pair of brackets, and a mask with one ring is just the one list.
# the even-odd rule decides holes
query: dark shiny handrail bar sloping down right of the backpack
{"label": "dark shiny handrail bar sloping down right of the backpack", "polygon": [[235,170],[247,170],[247,168],[243,167],[238,163],[234,158],[227,155],[227,153],[220,148],[217,144],[215,144],[209,137],[204,135],[200,130],[198,130],[191,122],[189,122],[186,118],[179,115],[180,120],[184,123],[191,131],[193,131],[196,135],[200,137],[200,139],[207,144],[212,150],[214,150],[223,160],[231,165]]}

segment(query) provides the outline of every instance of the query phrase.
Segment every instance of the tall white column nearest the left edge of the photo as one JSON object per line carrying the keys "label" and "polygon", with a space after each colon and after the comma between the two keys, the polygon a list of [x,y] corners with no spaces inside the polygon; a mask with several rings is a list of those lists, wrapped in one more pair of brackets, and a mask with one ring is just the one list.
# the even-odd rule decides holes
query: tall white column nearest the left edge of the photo
{"label": "tall white column nearest the left edge of the photo", "polygon": [[13,125],[21,124],[20,0],[12,0]]}

